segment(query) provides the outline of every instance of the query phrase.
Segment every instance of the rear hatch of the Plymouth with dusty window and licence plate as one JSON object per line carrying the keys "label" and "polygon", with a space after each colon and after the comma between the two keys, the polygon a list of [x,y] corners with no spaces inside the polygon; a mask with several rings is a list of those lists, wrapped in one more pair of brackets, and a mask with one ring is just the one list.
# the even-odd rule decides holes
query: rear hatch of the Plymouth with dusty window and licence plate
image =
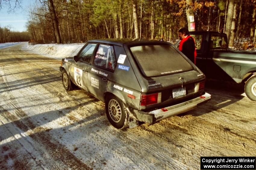
{"label": "rear hatch of the Plymouth with dusty window and licence plate", "polygon": [[170,44],[131,46],[140,74],[140,110],[163,108],[204,94],[205,76]]}

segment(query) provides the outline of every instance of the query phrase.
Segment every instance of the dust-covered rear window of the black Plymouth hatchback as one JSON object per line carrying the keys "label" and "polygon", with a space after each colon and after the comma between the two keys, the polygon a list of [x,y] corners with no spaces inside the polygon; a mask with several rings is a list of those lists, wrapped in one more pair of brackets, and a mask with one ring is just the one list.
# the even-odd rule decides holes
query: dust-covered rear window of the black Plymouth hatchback
{"label": "dust-covered rear window of the black Plymouth hatchback", "polygon": [[189,62],[168,44],[133,46],[130,50],[141,72],[147,77],[193,69]]}

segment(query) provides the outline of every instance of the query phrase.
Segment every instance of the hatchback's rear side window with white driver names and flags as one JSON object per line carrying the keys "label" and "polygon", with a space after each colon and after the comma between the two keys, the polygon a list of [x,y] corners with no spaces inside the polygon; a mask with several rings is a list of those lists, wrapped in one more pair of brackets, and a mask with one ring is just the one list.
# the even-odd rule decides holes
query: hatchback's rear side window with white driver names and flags
{"label": "hatchback's rear side window with white driver names and flags", "polygon": [[105,69],[115,70],[117,64],[113,46],[100,44],[94,56],[93,64]]}

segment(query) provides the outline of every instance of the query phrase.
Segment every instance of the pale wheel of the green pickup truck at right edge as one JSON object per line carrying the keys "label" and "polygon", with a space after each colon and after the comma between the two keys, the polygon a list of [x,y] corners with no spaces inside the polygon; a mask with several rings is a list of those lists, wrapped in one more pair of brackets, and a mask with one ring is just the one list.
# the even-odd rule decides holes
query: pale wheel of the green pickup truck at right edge
{"label": "pale wheel of the green pickup truck at right edge", "polygon": [[253,101],[256,101],[256,76],[252,76],[245,83],[245,94]]}

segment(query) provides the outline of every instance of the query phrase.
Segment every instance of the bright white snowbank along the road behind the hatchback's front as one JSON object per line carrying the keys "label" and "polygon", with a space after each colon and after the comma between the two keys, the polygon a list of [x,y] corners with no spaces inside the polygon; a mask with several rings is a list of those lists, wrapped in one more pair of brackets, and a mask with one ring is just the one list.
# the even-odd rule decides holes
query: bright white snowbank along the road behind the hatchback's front
{"label": "bright white snowbank along the road behind the hatchback's front", "polygon": [[28,49],[32,50],[34,53],[61,60],[62,58],[76,55],[84,45],[85,43],[29,44]]}

